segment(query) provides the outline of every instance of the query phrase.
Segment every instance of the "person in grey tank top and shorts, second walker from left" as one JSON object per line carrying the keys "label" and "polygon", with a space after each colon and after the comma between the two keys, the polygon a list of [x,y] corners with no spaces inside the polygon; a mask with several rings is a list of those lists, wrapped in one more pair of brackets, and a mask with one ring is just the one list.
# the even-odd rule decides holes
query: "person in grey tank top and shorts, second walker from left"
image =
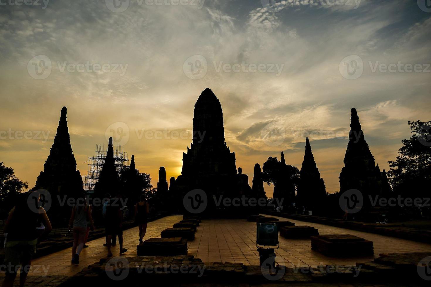
{"label": "person in grey tank top and shorts, second walker from left", "polygon": [[86,195],[81,194],[77,199],[75,206],[72,208],[72,214],[69,220],[69,230],[73,226],[72,263],[75,264],[79,263],[79,253],[81,253],[82,248],[84,248],[88,224],[90,224],[91,230],[94,230],[91,209],[85,198]]}

